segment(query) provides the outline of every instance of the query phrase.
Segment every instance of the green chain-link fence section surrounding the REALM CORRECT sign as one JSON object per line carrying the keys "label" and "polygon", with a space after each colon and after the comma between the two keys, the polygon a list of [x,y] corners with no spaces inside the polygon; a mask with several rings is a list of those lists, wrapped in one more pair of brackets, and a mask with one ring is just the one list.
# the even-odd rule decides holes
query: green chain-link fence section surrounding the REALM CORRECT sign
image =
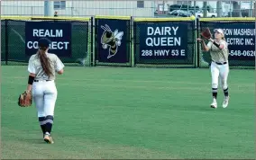
{"label": "green chain-link fence section surrounding the REALM CORRECT sign", "polygon": [[[91,65],[91,20],[76,21],[68,19],[50,20],[43,18],[32,18],[28,20],[10,20],[1,21],[1,62],[2,65],[26,65],[30,55],[26,53],[28,40],[26,40],[26,22],[69,22],[71,25],[71,37],[68,38],[71,56],[60,56],[59,58],[67,66],[90,66]],[[52,38],[55,40],[56,38]],[[34,45],[34,43],[32,44]],[[34,52],[33,54],[35,54]],[[52,53],[54,51],[52,50]]]}

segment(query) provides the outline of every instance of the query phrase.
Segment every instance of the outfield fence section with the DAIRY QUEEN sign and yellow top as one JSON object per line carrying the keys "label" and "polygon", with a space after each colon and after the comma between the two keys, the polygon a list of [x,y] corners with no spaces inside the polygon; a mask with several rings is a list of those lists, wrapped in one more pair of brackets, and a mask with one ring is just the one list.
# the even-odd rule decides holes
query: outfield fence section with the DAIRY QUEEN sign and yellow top
{"label": "outfield fence section with the DAIRY QUEEN sign and yellow top", "polygon": [[191,18],[135,18],[134,65],[196,67],[195,21]]}

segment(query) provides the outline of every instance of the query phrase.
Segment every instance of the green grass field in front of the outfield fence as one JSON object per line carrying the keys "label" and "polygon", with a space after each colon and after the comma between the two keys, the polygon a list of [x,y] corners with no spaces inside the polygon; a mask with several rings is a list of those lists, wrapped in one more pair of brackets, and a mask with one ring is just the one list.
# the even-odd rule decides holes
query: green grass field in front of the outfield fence
{"label": "green grass field in front of the outfield fence", "polygon": [[45,144],[26,67],[2,66],[2,158],[255,158],[254,70],[232,69],[230,105],[209,107],[209,69],[66,67]]}

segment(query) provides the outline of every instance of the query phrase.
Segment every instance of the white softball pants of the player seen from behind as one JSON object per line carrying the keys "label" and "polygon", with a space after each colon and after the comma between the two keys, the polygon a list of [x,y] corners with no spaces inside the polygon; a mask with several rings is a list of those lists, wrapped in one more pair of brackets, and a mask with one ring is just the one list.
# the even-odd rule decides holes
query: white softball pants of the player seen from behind
{"label": "white softball pants of the player seen from behind", "polygon": [[32,97],[37,108],[38,117],[54,115],[57,100],[57,88],[54,81],[33,82]]}

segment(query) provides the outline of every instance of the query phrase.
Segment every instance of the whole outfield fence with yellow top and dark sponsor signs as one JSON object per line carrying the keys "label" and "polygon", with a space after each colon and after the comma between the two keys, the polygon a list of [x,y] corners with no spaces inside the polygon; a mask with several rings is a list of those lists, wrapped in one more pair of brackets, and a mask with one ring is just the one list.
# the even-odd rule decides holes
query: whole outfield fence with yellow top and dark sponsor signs
{"label": "whole outfield fence with yellow top and dark sponsor signs", "polygon": [[255,18],[1,18],[2,65],[27,65],[37,40],[47,37],[49,52],[66,66],[208,67],[197,37],[209,27],[224,29],[230,67],[255,66]]}

